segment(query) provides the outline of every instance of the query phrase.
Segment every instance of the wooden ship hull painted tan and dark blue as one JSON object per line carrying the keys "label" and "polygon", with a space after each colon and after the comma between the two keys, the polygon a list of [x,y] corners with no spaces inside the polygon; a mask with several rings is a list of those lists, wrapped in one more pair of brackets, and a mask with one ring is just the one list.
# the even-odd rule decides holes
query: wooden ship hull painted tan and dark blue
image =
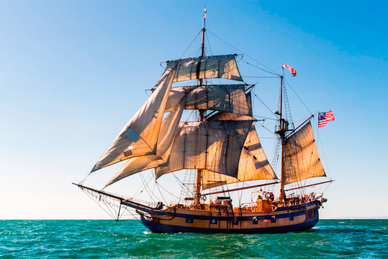
{"label": "wooden ship hull painted tan and dark blue", "polygon": [[[170,209],[171,210],[171,209]],[[155,233],[264,234],[304,231],[317,224],[316,202],[278,208],[269,212],[216,212],[173,209],[141,215],[142,223]]]}

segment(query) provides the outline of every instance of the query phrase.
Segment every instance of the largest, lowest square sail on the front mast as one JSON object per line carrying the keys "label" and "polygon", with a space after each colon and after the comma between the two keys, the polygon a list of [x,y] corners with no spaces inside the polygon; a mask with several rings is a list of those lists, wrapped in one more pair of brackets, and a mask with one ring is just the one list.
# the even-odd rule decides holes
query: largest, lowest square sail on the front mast
{"label": "largest, lowest square sail on the front mast", "polygon": [[252,121],[181,122],[168,162],[156,177],[181,169],[207,169],[237,177],[240,154]]}

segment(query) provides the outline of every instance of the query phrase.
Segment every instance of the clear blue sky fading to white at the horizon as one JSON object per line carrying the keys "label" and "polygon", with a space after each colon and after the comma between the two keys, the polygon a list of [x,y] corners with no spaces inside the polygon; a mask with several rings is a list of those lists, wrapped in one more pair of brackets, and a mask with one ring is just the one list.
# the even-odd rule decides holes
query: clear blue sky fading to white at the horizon
{"label": "clear blue sky fading to white at the horizon", "polygon": [[[0,1],[0,219],[107,218],[71,182],[146,100],[159,62],[178,59],[194,39],[204,5],[210,32],[277,72],[293,66],[298,75],[287,81],[308,109],[335,113],[319,130],[336,179],[322,218],[388,216],[387,2]],[[208,36],[214,54],[238,53]],[[278,87],[263,79],[255,90],[273,110]],[[307,117],[289,97],[294,120]],[[255,113],[271,116],[258,102]],[[272,141],[262,139],[269,157]],[[131,194],[136,180],[115,188]]]}

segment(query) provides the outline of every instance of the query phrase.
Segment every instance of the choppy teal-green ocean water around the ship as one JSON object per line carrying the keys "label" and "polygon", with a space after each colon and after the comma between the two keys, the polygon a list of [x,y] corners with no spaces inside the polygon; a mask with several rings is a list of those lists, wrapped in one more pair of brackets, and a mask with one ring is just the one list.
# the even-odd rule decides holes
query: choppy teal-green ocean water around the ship
{"label": "choppy teal-green ocean water around the ship", "polygon": [[307,232],[156,234],[137,220],[2,220],[0,258],[388,258],[388,220],[320,220]]}

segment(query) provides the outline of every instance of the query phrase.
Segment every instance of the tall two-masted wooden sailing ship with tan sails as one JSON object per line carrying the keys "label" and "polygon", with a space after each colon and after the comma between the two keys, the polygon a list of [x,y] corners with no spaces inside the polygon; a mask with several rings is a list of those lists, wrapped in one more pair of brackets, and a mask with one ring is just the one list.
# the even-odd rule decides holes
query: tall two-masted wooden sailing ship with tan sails
{"label": "tall two-masted wooden sailing ship with tan sails", "polygon": [[[116,220],[126,212],[138,213],[152,232],[278,233],[313,227],[326,199],[306,188],[332,181],[306,184],[306,179],[326,176],[310,122],[314,114],[293,126],[283,75],[288,66],[283,65],[281,74],[275,74],[280,97],[274,112],[277,145],[271,166],[255,128],[259,120],[252,111],[254,85],[243,83],[236,54],[205,56],[205,17],[206,12],[201,55],[166,62],[152,94],[90,172],[126,161],[107,187],[147,169],[153,170],[155,181],[186,169],[179,202],[139,201],[108,193],[105,187],[84,186],[85,179],[76,185],[107,205]],[[210,79],[232,84],[208,84]],[[196,83],[173,86],[188,80]],[[183,121],[184,110],[194,110],[197,120]],[[274,171],[278,161],[280,179]],[[252,180],[266,182],[249,186],[246,182]],[[233,183],[245,186],[229,189]],[[277,186],[280,192],[275,197]],[[250,201],[233,207],[228,195],[247,189],[252,190]]]}

